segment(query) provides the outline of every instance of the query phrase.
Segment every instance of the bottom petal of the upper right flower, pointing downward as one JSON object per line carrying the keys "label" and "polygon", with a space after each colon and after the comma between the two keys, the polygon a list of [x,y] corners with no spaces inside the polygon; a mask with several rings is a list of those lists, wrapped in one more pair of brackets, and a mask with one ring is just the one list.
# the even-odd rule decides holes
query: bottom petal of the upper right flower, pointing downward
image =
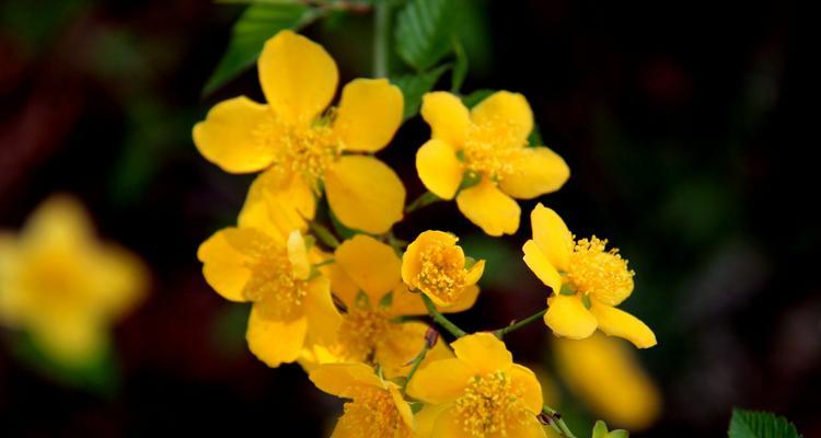
{"label": "bottom petal of the upper right flower, pointing downward", "polygon": [[519,205],[487,178],[460,192],[456,205],[471,222],[488,235],[512,234],[519,229]]}

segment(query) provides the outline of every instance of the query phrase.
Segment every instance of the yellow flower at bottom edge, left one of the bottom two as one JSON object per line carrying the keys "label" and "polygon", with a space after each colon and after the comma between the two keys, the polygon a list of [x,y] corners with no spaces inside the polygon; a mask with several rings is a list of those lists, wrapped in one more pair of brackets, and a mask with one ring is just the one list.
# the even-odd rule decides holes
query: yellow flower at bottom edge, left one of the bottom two
{"label": "yellow flower at bottom edge, left one of the bottom two", "polygon": [[310,373],[316,388],[351,401],[336,423],[333,438],[410,438],[414,417],[400,387],[363,364],[328,364]]}

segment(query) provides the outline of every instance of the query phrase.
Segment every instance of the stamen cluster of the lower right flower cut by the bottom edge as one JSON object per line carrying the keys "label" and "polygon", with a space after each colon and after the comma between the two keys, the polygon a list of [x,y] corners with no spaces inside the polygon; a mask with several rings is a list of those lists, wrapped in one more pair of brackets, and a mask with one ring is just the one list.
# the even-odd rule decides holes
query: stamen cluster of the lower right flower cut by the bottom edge
{"label": "stamen cluster of the lower right flower cut by the bottom edge", "polygon": [[464,431],[473,438],[506,437],[510,426],[524,423],[530,415],[521,403],[522,396],[502,371],[475,376],[456,400],[456,414]]}

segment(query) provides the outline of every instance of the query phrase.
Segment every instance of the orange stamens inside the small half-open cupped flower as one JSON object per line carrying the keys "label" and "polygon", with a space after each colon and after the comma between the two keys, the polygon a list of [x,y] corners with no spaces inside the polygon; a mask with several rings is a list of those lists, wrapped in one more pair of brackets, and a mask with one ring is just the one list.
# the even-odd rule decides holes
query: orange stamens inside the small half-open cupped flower
{"label": "orange stamens inside the small half-open cupped flower", "polygon": [[455,245],[430,242],[420,254],[419,289],[453,302],[464,289],[464,254]]}

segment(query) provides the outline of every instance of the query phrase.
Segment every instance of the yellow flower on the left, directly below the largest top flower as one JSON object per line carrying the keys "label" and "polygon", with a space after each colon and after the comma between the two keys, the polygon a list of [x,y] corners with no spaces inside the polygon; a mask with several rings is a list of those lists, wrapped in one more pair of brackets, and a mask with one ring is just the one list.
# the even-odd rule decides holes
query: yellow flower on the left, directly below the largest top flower
{"label": "yellow flower on the left, directly below the largest top flower", "polygon": [[252,302],[248,348],[269,367],[296,361],[305,345],[332,342],[342,323],[331,281],[312,267],[299,230],[284,235],[266,215],[241,216],[197,252],[223,298]]}

